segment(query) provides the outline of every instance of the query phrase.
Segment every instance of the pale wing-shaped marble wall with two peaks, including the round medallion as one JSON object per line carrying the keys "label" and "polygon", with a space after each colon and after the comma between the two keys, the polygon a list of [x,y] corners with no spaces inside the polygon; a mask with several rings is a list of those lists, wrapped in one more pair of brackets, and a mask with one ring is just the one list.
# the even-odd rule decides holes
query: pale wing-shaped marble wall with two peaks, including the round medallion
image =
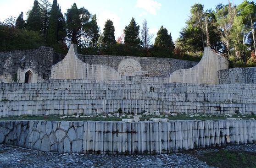
{"label": "pale wing-shaped marble wall with two peaks, including the round medallion", "polygon": [[[89,80],[138,80],[148,82],[180,82],[194,84],[217,84],[219,70],[228,69],[228,61],[205,48],[202,60],[190,69],[176,70],[169,76],[145,77],[138,61],[122,60],[118,71],[106,65],[88,65],[78,59],[76,46],[71,44],[67,56],[52,66],[51,79],[89,79]],[[146,73],[145,73],[146,74]],[[128,78],[129,76],[130,78]],[[133,77],[133,76],[137,76]]]}

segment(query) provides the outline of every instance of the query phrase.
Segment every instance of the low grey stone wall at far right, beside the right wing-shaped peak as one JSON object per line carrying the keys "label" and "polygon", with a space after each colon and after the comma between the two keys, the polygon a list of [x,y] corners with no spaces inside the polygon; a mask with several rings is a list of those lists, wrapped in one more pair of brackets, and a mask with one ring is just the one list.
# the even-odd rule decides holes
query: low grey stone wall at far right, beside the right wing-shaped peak
{"label": "low grey stone wall at far right, beside the right wing-shaped peak", "polygon": [[220,84],[256,83],[256,67],[220,70]]}

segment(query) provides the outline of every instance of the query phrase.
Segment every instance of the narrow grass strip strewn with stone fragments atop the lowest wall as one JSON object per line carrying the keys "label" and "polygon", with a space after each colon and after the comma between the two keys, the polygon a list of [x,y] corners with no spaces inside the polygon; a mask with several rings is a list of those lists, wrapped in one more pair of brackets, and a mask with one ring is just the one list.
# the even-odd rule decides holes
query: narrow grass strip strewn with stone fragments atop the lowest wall
{"label": "narrow grass strip strewn with stone fragments atop the lowest wall", "polygon": [[[121,114],[120,114],[121,115]],[[103,118],[102,116],[93,116],[89,118],[72,118],[67,117],[65,119],[60,119],[61,115],[41,115],[41,116],[34,116],[34,115],[22,115],[22,116],[12,116],[12,117],[1,117],[0,120],[46,120],[46,121],[122,121],[122,119],[128,119],[127,115],[123,118],[117,118],[117,117],[107,117]],[[133,117],[132,117],[133,118]],[[157,116],[157,115],[142,115],[140,118],[140,121],[149,120],[151,118],[167,118],[169,120],[214,120],[214,119],[226,119],[225,116],[219,116],[219,115],[200,115],[200,116],[193,116],[189,117],[186,114],[178,114],[177,116]],[[244,117],[241,114],[235,114],[232,116],[232,118],[241,118],[241,119],[250,119],[255,118],[256,115],[245,115]]]}

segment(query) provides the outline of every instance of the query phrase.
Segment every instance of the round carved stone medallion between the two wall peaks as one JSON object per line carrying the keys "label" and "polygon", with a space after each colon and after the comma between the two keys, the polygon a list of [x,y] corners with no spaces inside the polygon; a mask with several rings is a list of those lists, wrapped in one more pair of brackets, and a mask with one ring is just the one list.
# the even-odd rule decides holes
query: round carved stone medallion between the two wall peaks
{"label": "round carved stone medallion between the two wall peaks", "polygon": [[141,72],[141,66],[134,59],[122,60],[118,66],[118,72],[124,76],[136,76],[137,73]]}

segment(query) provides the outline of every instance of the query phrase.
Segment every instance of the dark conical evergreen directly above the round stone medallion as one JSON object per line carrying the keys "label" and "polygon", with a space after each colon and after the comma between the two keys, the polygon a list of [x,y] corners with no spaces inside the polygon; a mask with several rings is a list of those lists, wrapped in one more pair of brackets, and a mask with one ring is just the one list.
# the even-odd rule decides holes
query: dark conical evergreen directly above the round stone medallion
{"label": "dark conical evergreen directly above the round stone medallion", "polygon": [[131,48],[138,48],[141,43],[139,38],[139,25],[132,18],[130,24],[124,29],[124,43]]}

